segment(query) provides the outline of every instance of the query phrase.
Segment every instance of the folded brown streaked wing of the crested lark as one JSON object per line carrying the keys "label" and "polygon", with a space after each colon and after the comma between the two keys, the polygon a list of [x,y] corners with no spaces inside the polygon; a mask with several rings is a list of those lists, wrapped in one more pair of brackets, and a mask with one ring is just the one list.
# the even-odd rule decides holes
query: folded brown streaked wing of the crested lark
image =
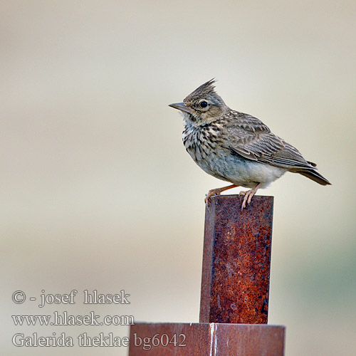
{"label": "folded brown streaked wing of the crested lark", "polygon": [[271,132],[256,117],[239,114],[238,120],[230,121],[227,127],[230,149],[239,155],[260,163],[298,171],[315,169],[300,152]]}

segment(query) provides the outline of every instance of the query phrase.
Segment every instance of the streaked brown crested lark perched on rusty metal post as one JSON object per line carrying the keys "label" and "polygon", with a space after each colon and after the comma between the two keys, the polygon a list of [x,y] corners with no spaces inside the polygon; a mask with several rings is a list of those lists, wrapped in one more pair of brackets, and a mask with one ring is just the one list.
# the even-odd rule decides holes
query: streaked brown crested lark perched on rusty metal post
{"label": "streaked brown crested lark perched on rusty metal post", "polygon": [[317,172],[316,164],[283,138],[275,135],[261,120],[232,110],[216,93],[211,79],[184,98],[169,106],[182,113],[183,143],[189,155],[211,176],[232,183],[211,189],[211,197],[234,187],[250,188],[244,195],[241,210],[251,203],[258,189],[268,187],[286,172],[302,174],[321,185],[331,184]]}

